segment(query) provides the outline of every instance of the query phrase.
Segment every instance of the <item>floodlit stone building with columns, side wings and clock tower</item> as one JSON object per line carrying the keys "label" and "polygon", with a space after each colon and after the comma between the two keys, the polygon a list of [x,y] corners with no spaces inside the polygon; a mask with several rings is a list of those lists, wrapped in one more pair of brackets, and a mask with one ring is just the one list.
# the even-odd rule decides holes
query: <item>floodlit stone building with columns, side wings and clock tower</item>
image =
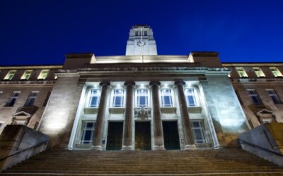
{"label": "floodlit stone building with columns, side wings and clock tower", "polygon": [[1,67],[0,132],[28,125],[68,149],[217,149],[283,120],[283,63],[157,55],[146,25],[132,27],[126,48],[126,56],[67,54],[63,65]]}

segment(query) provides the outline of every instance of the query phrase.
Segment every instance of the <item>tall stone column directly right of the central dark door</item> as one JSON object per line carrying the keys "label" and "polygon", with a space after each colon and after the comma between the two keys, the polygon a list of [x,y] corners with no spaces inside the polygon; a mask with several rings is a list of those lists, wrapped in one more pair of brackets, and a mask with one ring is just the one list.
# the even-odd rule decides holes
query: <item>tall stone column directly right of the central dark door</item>
{"label": "tall stone column directly right of the central dark door", "polygon": [[160,82],[151,81],[149,84],[152,87],[152,101],[154,104],[152,109],[152,111],[154,112],[154,150],[164,150],[163,129],[158,92],[158,86],[160,85]]}

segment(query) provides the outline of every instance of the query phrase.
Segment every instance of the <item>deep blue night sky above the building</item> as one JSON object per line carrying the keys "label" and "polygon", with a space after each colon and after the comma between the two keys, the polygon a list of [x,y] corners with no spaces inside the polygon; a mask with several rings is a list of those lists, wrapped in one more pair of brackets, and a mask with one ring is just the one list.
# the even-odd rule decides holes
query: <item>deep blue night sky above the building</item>
{"label": "deep blue night sky above the building", "polygon": [[62,64],[68,53],[125,55],[135,24],[153,28],[158,54],[283,61],[280,0],[0,0],[0,22],[0,65]]}

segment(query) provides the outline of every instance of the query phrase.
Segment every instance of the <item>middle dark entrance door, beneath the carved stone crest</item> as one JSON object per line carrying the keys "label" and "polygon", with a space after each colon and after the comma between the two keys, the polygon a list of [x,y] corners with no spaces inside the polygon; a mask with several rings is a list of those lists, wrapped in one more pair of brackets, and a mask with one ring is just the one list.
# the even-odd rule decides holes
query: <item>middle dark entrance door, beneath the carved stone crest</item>
{"label": "middle dark entrance door, beneath the carved stone crest", "polygon": [[151,150],[150,122],[136,122],[135,147],[136,150]]}

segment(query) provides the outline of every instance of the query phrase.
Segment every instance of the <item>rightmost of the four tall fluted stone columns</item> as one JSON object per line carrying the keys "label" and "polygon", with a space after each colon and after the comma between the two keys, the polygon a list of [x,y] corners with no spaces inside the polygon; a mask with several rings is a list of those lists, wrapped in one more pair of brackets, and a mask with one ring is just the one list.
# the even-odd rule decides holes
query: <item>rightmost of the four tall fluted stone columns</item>
{"label": "rightmost of the four tall fluted stone columns", "polygon": [[195,141],[194,136],[192,134],[192,127],[190,126],[190,116],[187,111],[187,103],[185,101],[185,93],[183,89],[183,85],[185,82],[176,81],[175,85],[177,85],[178,89],[178,99],[180,103],[180,113],[183,122],[183,131],[184,131],[184,139],[185,139],[185,150],[187,149],[195,149]]}

